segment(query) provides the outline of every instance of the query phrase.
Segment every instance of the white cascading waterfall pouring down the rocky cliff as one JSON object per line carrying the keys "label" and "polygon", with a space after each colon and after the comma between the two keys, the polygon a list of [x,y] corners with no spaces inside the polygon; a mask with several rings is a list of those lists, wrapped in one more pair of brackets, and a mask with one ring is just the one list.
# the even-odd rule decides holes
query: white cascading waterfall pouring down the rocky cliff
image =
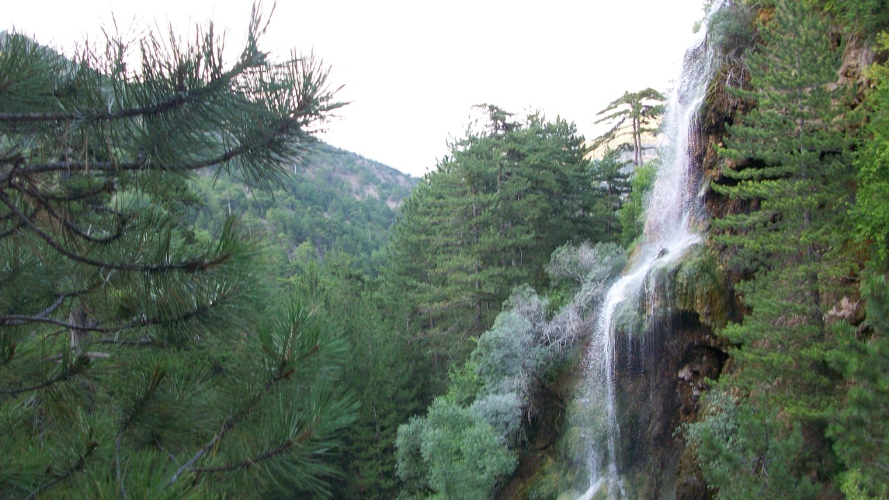
{"label": "white cascading waterfall pouring down the rocky cliff", "polygon": [[[719,7],[717,3],[710,13]],[[635,309],[646,282],[646,289],[653,289],[652,270],[676,262],[690,246],[701,241],[693,230],[696,215],[701,212],[701,180],[700,174],[693,172],[690,145],[698,128],[698,109],[709,85],[711,60],[706,30],[701,29],[699,39],[685,52],[682,75],[669,98],[662,134],[666,141],[661,146],[661,168],[646,210],[645,239],[599,310],[586,360],[586,393],[581,399],[581,411],[585,414],[582,418],[591,430],[591,435],[585,437],[589,440],[589,488],[578,500],[629,498],[619,470],[622,447],[615,397],[616,321],[622,310]],[[632,328],[627,330],[628,335],[642,335]]]}

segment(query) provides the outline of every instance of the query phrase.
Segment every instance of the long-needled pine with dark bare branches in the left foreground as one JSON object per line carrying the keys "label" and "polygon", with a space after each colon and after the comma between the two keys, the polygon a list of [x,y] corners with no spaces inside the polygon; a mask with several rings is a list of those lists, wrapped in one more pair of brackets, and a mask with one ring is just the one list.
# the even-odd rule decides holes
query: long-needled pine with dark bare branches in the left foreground
{"label": "long-needled pine with dark bare branches in the left foreground", "polygon": [[235,218],[181,217],[191,173],[268,187],[340,106],[264,25],[230,65],[212,25],[72,58],[0,36],[0,498],[327,490],[342,343]]}

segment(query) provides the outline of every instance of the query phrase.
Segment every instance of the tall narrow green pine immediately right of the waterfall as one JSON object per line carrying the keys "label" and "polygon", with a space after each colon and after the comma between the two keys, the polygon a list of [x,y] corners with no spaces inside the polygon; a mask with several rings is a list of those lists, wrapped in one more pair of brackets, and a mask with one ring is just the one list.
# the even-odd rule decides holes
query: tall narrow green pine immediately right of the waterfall
{"label": "tall narrow green pine immediately right of the waterfall", "polygon": [[[848,271],[839,249],[850,236],[843,214],[853,200],[851,95],[838,82],[841,48],[831,44],[817,12],[781,3],[762,36],[761,52],[748,60],[753,90],[737,91],[756,108],[729,127],[721,151],[744,166],[725,170],[734,185],[715,187],[747,203],[749,213],[714,224],[727,231],[717,240],[736,249],[734,263],[755,273],[741,286],[751,314],[726,334],[744,344],[739,359],[753,357],[749,370],[791,376],[788,370],[796,369],[796,384],[822,371],[812,371],[814,359],[789,363],[785,357],[820,356],[806,350],[826,339],[821,299]],[[768,355],[755,347],[765,339]],[[762,379],[775,376],[764,373]],[[802,410],[810,402],[794,406]]]}

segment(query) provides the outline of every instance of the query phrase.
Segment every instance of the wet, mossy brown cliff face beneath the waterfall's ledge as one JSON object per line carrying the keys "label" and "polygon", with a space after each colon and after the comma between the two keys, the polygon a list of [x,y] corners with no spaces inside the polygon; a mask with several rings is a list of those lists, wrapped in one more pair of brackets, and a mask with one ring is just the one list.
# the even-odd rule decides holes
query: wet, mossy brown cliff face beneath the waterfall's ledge
{"label": "wet, mossy brown cliff face beneath the waterfall's ledge", "polygon": [[638,498],[706,499],[681,428],[697,418],[707,381],[725,369],[727,346],[714,328],[738,309],[707,246],[652,279],[642,335],[617,336],[615,391],[625,445],[619,466]]}

